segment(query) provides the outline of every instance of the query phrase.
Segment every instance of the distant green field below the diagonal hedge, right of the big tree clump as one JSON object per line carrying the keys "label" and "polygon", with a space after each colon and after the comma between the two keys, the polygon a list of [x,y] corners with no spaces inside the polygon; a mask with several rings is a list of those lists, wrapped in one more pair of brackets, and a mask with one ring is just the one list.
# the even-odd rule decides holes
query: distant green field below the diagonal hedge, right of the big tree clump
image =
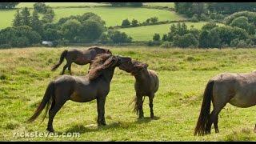
{"label": "distant green field below the diagonal hedge, right of the big tree clump", "polygon": [[[190,26],[194,26],[196,29],[201,29],[203,25],[206,24],[206,22],[185,22],[186,26],[190,28]],[[172,24],[177,23],[169,23],[169,24],[163,24],[163,25],[154,25],[154,26],[139,26],[134,28],[123,28],[119,29],[119,31],[125,32],[129,36],[133,38],[133,41],[149,41],[152,40],[153,35],[155,33],[160,34],[160,37],[162,38],[163,34],[167,34],[170,31],[170,26]],[[222,24],[218,24],[222,25]]]}

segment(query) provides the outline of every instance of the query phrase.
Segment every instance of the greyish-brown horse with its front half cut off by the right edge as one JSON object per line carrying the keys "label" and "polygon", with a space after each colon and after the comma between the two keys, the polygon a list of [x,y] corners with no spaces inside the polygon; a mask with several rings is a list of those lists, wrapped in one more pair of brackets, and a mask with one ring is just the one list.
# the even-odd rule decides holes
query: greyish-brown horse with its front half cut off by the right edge
{"label": "greyish-brown horse with its front half cut off by the right edge", "polygon": [[[213,102],[214,106],[211,113],[210,102]],[[218,114],[227,102],[242,108],[256,105],[255,71],[247,74],[223,73],[209,80],[203,94],[201,112],[194,135],[210,134],[213,123],[215,133],[218,133]]]}

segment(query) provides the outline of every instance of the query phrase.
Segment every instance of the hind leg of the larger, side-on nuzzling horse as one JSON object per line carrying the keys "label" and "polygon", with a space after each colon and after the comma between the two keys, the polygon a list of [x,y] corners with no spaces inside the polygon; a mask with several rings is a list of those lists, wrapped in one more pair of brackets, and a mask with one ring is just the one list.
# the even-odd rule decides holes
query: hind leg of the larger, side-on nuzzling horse
{"label": "hind leg of the larger, side-on nuzzling horse", "polygon": [[60,110],[62,106],[65,104],[65,102],[66,100],[64,99],[62,99],[62,101],[53,100],[49,110],[49,121],[48,121],[48,126],[46,130],[50,132],[54,132],[54,127],[53,127],[54,117],[58,113],[58,110]]}

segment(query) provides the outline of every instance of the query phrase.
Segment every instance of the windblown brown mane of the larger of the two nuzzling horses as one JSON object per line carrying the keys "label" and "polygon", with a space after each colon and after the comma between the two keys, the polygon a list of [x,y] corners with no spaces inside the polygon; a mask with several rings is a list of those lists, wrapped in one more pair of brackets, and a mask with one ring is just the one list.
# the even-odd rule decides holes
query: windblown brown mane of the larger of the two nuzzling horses
{"label": "windblown brown mane of the larger of the two nuzzling horses", "polygon": [[98,54],[91,62],[89,70],[89,80],[94,80],[102,74],[103,70],[106,70],[110,66],[113,66],[117,62],[116,57],[111,54]]}

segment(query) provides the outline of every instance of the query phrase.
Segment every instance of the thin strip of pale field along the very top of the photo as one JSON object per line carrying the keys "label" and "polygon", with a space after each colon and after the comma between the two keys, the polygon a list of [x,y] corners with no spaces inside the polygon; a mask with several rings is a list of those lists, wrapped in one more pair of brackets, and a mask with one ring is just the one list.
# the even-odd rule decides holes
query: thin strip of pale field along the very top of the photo
{"label": "thin strip of pale field along the very top of the photo", "polygon": [[[18,8],[30,7],[33,8],[35,2],[20,2]],[[109,4],[102,2],[45,2],[47,6],[60,7],[60,6],[106,6]]]}

